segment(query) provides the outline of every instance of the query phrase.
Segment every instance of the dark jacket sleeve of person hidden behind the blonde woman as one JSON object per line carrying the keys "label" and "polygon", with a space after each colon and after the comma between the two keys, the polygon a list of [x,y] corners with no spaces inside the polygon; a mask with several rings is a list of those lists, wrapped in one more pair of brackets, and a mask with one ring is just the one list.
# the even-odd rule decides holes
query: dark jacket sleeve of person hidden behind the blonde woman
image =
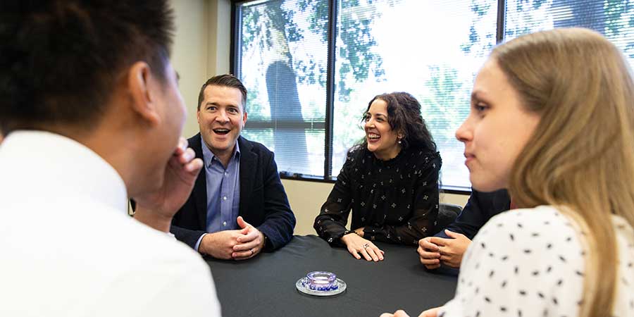
{"label": "dark jacket sleeve of person hidden behind the blonde woman", "polygon": [[[456,220],[447,226],[449,231],[458,232],[466,235],[473,240],[478,230],[487,223],[487,221],[502,211],[507,211],[511,207],[511,197],[506,189],[500,189],[495,192],[478,192],[471,189],[471,196],[466,206],[462,209]],[[438,232],[436,237],[449,238],[445,235],[445,230]]]}

